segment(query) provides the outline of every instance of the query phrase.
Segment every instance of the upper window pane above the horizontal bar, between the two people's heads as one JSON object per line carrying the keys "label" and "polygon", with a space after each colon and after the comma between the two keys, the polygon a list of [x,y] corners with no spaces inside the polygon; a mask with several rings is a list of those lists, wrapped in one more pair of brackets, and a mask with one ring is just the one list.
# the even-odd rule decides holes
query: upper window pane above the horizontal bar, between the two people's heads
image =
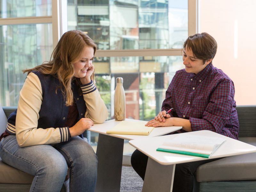
{"label": "upper window pane above the horizontal bar, between the two people's heads", "polygon": [[68,30],[102,50],[177,49],[188,37],[188,0],[68,1]]}

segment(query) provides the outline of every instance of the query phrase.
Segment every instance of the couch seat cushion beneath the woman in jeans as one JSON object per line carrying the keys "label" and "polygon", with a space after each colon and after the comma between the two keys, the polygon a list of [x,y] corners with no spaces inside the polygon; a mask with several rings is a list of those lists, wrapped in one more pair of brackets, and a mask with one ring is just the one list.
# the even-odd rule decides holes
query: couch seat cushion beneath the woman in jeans
{"label": "couch seat cushion beneath the woman in jeans", "polygon": [[5,164],[0,158],[0,183],[31,184],[33,175]]}

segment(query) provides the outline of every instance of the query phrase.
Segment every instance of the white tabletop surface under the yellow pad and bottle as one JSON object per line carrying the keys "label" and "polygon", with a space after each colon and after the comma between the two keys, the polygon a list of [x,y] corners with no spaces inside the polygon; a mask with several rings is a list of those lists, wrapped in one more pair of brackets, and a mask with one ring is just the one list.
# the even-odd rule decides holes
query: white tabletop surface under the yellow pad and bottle
{"label": "white tabletop surface under the yellow pad and bottle", "polygon": [[[138,121],[141,122],[141,120],[135,120],[135,119],[125,119],[125,121]],[[177,130],[180,130],[182,127],[181,126],[170,126],[170,127],[155,127],[153,131],[149,135],[124,135],[124,134],[107,134],[107,130],[114,127],[121,121],[116,121],[115,119],[105,121],[102,124],[94,124],[90,129],[87,129],[88,131],[96,132],[96,133],[101,133],[104,135],[110,135],[113,137],[118,137],[121,139],[126,139],[126,140],[134,140],[134,139],[145,139],[145,138],[150,138],[150,137],[156,137],[156,136],[161,136],[165,135],[167,133],[171,133]],[[147,121],[144,121],[145,124]]]}

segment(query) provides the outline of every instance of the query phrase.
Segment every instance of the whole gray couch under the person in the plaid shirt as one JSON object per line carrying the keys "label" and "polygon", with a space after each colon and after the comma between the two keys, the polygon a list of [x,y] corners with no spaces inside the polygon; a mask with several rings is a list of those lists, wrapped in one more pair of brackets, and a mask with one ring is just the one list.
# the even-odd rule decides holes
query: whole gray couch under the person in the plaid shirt
{"label": "whole gray couch under the person in the plaid shirt", "polygon": [[[239,140],[256,146],[256,106],[237,106]],[[202,164],[194,191],[256,191],[256,153],[229,156]]]}

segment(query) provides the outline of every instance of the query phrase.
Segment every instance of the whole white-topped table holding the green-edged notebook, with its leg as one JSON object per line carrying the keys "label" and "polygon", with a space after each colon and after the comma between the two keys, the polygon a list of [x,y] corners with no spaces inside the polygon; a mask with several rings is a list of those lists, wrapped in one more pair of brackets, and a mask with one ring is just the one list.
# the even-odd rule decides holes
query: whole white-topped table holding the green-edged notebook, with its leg
{"label": "whole white-topped table holding the green-edged notebook, with its leg", "polygon": [[[255,146],[235,139],[231,139],[229,137],[208,130],[181,134],[193,134],[225,138],[226,141],[212,154],[209,159],[256,152]],[[149,157],[142,188],[143,192],[172,191],[175,164],[207,159],[203,157],[156,151],[156,149],[159,148],[165,140],[170,140],[174,137],[177,137],[177,134],[129,141],[129,143],[133,147],[137,148]]]}

